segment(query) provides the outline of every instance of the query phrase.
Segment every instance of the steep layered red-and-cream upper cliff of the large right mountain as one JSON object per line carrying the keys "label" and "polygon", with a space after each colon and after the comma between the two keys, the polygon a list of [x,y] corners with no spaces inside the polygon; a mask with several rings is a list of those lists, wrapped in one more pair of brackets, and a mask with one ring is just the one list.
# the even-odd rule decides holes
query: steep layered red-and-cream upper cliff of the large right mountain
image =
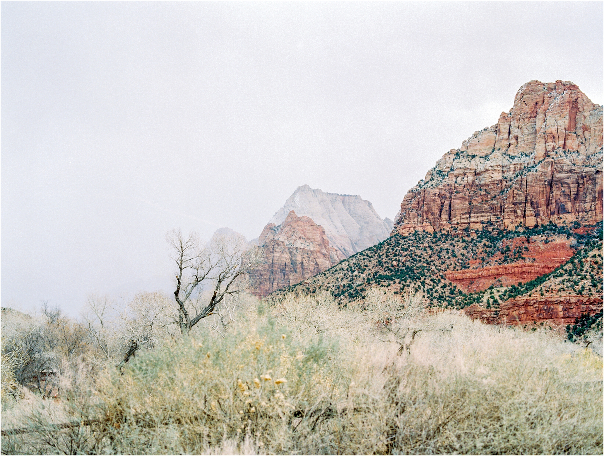
{"label": "steep layered red-and-cream upper cliff of the large right mountain", "polygon": [[571,82],[524,84],[499,122],[437,161],[394,232],[602,221],[602,106]]}

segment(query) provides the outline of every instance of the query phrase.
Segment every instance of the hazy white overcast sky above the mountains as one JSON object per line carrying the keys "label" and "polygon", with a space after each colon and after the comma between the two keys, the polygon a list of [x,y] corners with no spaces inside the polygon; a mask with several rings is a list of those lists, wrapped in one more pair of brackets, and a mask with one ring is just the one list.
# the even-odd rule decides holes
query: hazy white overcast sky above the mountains
{"label": "hazy white overcast sky above the mountains", "polygon": [[393,218],[522,83],[603,100],[602,2],[1,2],[1,301],[166,288],[301,184]]}

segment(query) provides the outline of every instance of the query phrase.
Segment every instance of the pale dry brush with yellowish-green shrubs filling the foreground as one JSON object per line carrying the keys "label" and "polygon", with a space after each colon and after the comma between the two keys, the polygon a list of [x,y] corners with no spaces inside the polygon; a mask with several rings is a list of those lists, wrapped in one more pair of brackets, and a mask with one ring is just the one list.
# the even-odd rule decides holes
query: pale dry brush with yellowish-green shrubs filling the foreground
{"label": "pale dry brush with yellowish-green shrubs filling the foreground", "polygon": [[214,314],[122,374],[75,375],[69,400],[26,395],[2,452],[602,454],[602,359],[545,330],[379,290],[237,299],[226,330]]}

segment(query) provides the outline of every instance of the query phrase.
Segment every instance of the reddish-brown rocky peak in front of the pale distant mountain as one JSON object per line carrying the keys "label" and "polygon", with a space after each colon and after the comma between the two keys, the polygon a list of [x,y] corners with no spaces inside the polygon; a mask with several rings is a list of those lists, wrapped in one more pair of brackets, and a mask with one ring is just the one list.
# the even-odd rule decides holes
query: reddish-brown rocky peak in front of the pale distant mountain
{"label": "reddish-brown rocky peak in front of the pale distant mountain", "polygon": [[252,271],[252,293],[266,296],[329,269],[343,257],[330,246],[325,230],[291,210],[283,223],[269,223],[258,239],[263,264]]}

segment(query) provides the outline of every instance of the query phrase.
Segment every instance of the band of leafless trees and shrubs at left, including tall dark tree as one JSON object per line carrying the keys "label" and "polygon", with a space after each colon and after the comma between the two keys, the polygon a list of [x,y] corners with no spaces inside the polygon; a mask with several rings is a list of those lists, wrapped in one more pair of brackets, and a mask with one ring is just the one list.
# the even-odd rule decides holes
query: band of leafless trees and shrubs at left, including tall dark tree
{"label": "band of leafless trees and shrubs at left, including tall dark tree", "polygon": [[239,295],[247,287],[246,274],[259,262],[257,249],[237,234],[215,235],[203,245],[195,233],[185,238],[172,230],[167,240],[176,265],[176,306],[163,293],[120,301],[92,294],[82,322],[47,303],[36,318],[3,311],[2,397],[18,396],[19,385],[32,384],[43,397],[57,396],[59,377],[68,372],[72,376],[86,366],[94,377],[105,366],[121,368],[139,350],[180,339],[206,318],[203,329],[224,336],[251,305]]}

